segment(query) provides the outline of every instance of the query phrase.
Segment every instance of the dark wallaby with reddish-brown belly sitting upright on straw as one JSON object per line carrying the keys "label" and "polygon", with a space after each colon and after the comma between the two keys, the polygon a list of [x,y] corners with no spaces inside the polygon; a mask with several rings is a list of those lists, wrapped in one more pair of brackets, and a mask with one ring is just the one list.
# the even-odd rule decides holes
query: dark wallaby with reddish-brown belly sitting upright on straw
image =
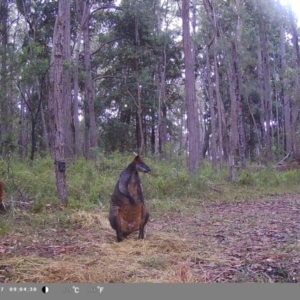
{"label": "dark wallaby with reddish-brown belly sitting upright on straw", "polygon": [[144,201],[142,183],[138,172],[148,173],[151,169],[139,155],[123,170],[110,199],[109,222],[121,242],[129,234],[139,231],[144,238],[149,211]]}

